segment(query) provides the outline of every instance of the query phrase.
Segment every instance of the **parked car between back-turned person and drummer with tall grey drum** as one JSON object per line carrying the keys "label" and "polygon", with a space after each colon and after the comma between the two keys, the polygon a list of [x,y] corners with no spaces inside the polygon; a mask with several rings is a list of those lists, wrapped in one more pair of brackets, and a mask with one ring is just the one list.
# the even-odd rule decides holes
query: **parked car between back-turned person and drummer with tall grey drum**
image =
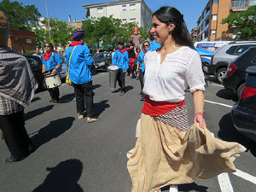
{"label": "parked car between back-turned person and drummer with tall grey drum", "polygon": [[92,56],[94,59],[94,67],[96,71],[104,71],[108,72],[108,67],[112,63],[112,56],[111,53],[108,52],[100,52],[96,53]]}

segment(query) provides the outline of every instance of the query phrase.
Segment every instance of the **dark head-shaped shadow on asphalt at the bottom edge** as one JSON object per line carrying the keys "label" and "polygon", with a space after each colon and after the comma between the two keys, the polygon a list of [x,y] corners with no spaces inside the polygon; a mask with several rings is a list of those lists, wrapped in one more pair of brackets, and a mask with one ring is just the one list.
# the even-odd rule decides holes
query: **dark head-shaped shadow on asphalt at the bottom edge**
{"label": "dark head-shaped shadow on asphalt at the bottom edge", "polygon": [[78,181],[83,171],[80,160],[65,160],[55,167],[47,167],[48,176],[44,183],[40,184],[32,192],[61,191],[61,192],[83,192]]}

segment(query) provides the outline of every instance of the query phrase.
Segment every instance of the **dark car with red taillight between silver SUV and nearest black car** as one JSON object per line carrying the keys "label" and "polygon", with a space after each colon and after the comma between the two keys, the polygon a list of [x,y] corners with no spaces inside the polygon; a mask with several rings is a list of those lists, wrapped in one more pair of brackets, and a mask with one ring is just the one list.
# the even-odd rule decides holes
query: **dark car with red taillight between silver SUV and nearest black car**
{"label": "dark car with red taillight between silver SUV and nearest black car", "polygon": [[247,49],[235,61],[230,62],[223,79],[224,88],[235,91],[240,97],[245,86],[246,69],[250,66],[256,66],[256,46]]}

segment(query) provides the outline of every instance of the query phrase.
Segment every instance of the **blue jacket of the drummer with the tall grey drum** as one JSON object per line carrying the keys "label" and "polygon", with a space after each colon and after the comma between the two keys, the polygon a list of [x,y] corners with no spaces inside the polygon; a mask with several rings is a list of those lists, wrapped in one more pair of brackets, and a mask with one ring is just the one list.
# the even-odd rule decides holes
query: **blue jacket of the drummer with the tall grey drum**
{"label": "blue jacket of the drummer with the tall grey drum", "polygon": [[117,49],[114,52],[112,64],[118,66],[119,68],[122,68],[123,73],[125,73],[125,70],[129,69],[129,57],[127,50],[123,49],[123,51],[120,52],[120,50]]}

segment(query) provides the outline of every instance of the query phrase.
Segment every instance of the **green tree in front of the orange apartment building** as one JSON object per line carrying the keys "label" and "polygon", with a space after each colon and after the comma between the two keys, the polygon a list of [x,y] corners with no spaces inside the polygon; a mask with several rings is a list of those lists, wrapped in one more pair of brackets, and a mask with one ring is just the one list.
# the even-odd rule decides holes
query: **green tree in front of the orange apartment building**
{"label": "green tree in front of the orange apartment building", "polygon": [[241,28],[241,40],[250,40],[256,38],[256,5],[249,7],[244,12],[230,13],[230,15],[221,21],[227,23],[229,27]]}

